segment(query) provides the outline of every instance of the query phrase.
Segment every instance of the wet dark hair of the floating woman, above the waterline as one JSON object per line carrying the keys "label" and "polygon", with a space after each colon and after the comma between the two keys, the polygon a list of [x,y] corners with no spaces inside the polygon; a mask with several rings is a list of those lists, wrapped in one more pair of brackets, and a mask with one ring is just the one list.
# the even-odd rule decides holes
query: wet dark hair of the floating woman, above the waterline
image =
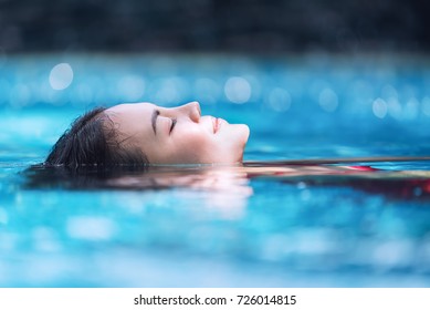
{"label": "wet dark hair of the floating woman, above the waterline", "polygon": [[138,148],[124,147],[113,121],[96,107],[76,118],[48,155],[44,166],[115,167],[147,165],[148,159]]}

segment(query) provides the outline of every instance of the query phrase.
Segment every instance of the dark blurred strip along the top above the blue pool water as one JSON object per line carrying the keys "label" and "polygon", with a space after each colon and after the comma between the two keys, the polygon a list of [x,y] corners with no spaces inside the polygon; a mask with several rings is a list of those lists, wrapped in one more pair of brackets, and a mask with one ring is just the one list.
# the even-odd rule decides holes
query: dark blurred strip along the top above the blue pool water
{"label": "dark blurred strip along the top above the blue pool water", "polygon": [[1,0],[2,53],[418,52],[427,1]]}

